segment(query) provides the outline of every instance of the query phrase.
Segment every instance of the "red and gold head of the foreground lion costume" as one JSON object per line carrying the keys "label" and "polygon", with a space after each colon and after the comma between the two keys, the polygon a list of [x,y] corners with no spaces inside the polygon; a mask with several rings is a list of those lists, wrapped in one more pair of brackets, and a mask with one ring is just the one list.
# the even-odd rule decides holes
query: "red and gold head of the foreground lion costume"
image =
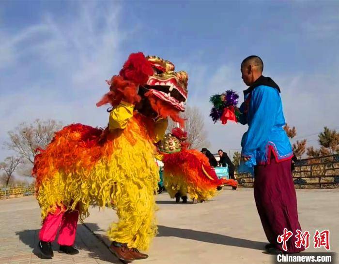
{"label": "red and gold head of the foreground lion costume", "polygon": [[110,91],[97,106],[110,103],[114,107],[125,101],[147,117],[170,117],[183,125],[179,113],[185,111],[188,74],[175,72],[172,62],[132,53],[119,75],[107,82]]}

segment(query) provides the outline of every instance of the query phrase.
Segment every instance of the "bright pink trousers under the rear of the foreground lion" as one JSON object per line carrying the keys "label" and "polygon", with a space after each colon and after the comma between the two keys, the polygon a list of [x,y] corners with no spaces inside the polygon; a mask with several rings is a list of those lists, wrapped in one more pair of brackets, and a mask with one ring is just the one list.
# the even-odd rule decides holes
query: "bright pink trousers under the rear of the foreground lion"
{"label": "bright pink trousers under the rear of the foreground lion", "polygon": [[53,242],[57,236],[58,244],[62,246],[72,246],[76,238],[78,211],[62,212],[60,207],[51,214],[49,213],[44,220],[39,233],[39,240],[44,242]]}

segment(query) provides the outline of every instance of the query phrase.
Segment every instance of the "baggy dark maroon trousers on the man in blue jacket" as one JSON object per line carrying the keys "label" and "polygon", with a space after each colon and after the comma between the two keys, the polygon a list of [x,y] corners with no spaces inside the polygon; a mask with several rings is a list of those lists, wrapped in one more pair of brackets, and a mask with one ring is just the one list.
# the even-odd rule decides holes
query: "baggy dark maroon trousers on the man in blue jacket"
{"label": "baggy dark maroon trousers on the man in blue jacket", "polygon": [[291,160],[258,165],[254,169],[254,199],[268,241],[277,249],[284,251],[277,243],[278,235],[284,228],[293,232],[287,242],[288,253],[300,252],[304,247],[296,248],[296,230],[300,228],[297,200],[291,172]]}

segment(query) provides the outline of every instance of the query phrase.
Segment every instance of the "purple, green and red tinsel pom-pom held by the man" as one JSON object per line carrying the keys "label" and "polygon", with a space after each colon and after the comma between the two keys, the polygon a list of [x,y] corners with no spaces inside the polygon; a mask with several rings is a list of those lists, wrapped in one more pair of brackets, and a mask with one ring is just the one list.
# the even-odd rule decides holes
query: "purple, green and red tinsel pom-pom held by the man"
{"label": "purple, green and red tinsel pom-pom held by the man", "polygon": [[239,95],[232,90],[227,90],[222,94],[215,94],[210,97],[210,102],[213,104],[210,117],[216,123],[218,120],[222,124],[226,124],[228,120],[238,121],[240,115],[238,108]]}

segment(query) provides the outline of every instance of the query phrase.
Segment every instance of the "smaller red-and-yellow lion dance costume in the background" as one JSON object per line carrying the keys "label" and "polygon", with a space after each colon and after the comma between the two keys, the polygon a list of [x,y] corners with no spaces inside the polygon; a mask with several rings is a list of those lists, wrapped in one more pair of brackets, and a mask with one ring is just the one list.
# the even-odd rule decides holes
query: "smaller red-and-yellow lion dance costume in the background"
{"label": "smaller red-and-yellow lion dance costume in the background", "polygon": [[233,180],[219,179],[207,157],[196,149],[188,149],[185,142],[187,133],[175,128],[159,144],[159,151],[164,153],[164,186],[176,202],[187,202],[187,193],[193,203],[204,202],[221,190],[221,185],[236,187]]}

